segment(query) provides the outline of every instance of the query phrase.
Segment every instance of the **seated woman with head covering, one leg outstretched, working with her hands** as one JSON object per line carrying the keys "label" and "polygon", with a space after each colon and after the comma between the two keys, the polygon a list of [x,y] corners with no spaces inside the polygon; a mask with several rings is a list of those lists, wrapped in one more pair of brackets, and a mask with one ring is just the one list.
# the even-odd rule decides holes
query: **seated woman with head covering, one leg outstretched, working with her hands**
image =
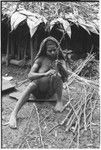
{"label": "seated woman with head covering, one leg outstretched, working with her hands", "polygon": [[[59,61],[56,61],[57,59]],[[56,94],[55,110],[61,112],[63,109],[61,99],[63,82],[67,77],[68,70],[58,41],[53,37],[44,39],[28,74],[31,82],[22,93],[21,99],[18,100],[11,113],[9,126],[11,128],[17,127],[17,113],[28,100],[30,94],[33,94],[38,99],[48,99]]]}

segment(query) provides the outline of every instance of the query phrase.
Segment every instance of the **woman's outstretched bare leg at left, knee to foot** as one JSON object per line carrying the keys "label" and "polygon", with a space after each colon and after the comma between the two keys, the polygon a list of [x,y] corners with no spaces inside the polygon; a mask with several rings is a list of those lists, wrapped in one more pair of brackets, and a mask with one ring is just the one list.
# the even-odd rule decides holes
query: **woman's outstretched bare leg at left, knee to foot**
{"label": "woman's outstretched bare leg at left, knee to foot", "polygon": [[9,126],[11,128],[17,128],[17,114],[18,111],[21,109],[21,107],[24,105],[24,103],[28,100],[29,95],[31,92],[33,92],[36,89],[36,84],[34,82],[31,82],[25,91],[22,93],[22,97],[18,100],[13,112],[11,113],[10,120],[9,120]]}

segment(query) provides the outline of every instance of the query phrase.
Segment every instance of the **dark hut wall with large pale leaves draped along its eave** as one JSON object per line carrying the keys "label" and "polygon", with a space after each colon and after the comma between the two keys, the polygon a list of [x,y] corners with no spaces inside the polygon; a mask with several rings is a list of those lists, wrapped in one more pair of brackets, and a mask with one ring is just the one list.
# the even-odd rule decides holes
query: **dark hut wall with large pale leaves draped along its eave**
{"label": "dark hut wall with large pale leaves draped along its eave", "polygon": [[1,27],[2,54],[6,55],[7,65],[10,59],[31,59],[33,64],[40,43],[48,36],[61,41],[63,51],[68,53],[70,50],[74,56],[85,57],[88,52],[99,54],[98,24],[84,18],[74,21],[68,15],[50,21],[42,15],[21,9],[11,15],[10,21],[6,17]]}

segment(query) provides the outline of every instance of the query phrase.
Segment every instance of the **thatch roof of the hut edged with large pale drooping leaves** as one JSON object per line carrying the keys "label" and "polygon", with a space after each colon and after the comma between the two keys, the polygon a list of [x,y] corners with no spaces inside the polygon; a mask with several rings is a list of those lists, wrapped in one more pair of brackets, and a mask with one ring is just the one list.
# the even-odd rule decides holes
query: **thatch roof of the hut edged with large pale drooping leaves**
{"label": "thatch roof of the hut edged with large pale drooping leaves", "polygon": [[[45,28],[51,31],[55,24],[59,30],[71,38],[71,26],[82,27],[88,34],[99,34],[98,2],[3,2],[2,15],[10,19],[11,30],[26,21],[31,37],[38,25],[44,22]],[[9,5],[9,8],[4,6]],[[27,5],[27,6],[26,6]]]}

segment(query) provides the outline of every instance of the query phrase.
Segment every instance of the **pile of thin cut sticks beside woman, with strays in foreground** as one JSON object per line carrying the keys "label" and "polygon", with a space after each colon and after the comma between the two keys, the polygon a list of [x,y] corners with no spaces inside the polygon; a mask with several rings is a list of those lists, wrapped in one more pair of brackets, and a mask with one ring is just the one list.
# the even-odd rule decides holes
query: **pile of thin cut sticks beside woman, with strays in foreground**
{"label": "pile of thin cut sticks beside woman, with strays in foreground", "polygon": [[[84,77],[80,77],[79,74],[82,72],[83,68],[86,67],[88,63],[94,60],[94,54],[89,54],[87,58],[77,67],[77,69],[72,72],[70,71],[71,75],[68,78],[68,82],[64,85],[64,90],[66,93],[65,98],[67,99],[66,104],[63,107],[63,111],[65,109],[69,109],[69,112],[66,114],[65,118],[57,122],[45,135],[42,134],[42,123],[44,123],[47,118],[50,118],[53,111],[49,111],[49,113],[44,117],[43,120],[40,121],[40,114],[38,112],[38,108],[36,104],[34,104],[34,108],[36,110],[37,118],[38,118],[38,126],[36,128],[39,129],[40,134],[40,142],[43,148],[45,148],[46,141],[43,137],[49,136],[52,131],[57,129],[58,127],[65,127],[65,131],[71,131],[73,132],[73,138],[70,141],[68,148],[71,147],[73,142],[76,139],[77,148],[80,148],[80,136],[81,136],[81,130],[83,130],[83,133],[90,129],[90,137],[93,139],[93,130],[92,125],[97,125],[93,122],[93,113],[96,107],[96,104],[99,100],[99,83],[98,80],[88,80]],[[74,91],[72,91],[72,89]],[[75,94],[78,93],[80,95],[78,98],[75,98]],[[97,95],[97,98],[95,98],[95,95]],[[31,115],[33,114],[33,111]],[[28,121],[28,124],[30,124],[30,119]],[[26,130],[28,131],[28,126],[26,126]],[[35,128],[35,129],[36,129]],[[35,130],[34,129],[34,130]],[[32,131],[34,132],[34,131]],[[22,143],[27,140],[28,135],[31,133],[27,133],[24,135],[23,140],[19,144],[18,147],[21,147]],[[28,144],[28,141],[27,141]],[[92,144],[92,143],[91,143]],[[30,145],[28,144],[28,147]]]}

